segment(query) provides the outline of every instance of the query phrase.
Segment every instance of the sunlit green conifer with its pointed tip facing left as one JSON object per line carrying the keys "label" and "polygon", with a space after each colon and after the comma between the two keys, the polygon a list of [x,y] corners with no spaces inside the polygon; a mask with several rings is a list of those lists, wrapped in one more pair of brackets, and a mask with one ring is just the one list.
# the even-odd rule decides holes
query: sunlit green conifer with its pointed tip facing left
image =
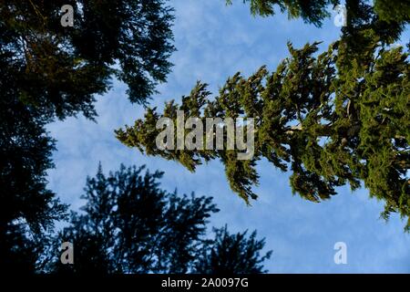
{"label": "sunlit green conifer with its pointed tip facing left", "polygon": [[[148,109],[144,120],[118,130],[119,141],[178,161],[190,171],[220,159],[231,189],[246,202],[257,197],[252,192],[259,183],[255,166],[266,159],[292,172],[292,190],[305,199],[320,202],[336,194],[338,186],[349,183],[355,190],[363,182],[371,196],[384,201],[384,218],[392,212],[408,218],[409,57],[405,47],[389,46],[407,19],[384,22],[370,5],[348,5],[356,5],[354,17],[341,39],[322,54],[317,54],[318,43],[301,49],[288,44],[291,56],[275,71],[261,67],[249,78],[237,73],[215,98],[199,82],[180,105],[171,101],[163,113]],[[226,150],[226,144],[220,151],[159,150],[157,121],[175,121],[177,110],[203,123],[213,117],[255,118],[253,159],[237,160],[238,151]]]}

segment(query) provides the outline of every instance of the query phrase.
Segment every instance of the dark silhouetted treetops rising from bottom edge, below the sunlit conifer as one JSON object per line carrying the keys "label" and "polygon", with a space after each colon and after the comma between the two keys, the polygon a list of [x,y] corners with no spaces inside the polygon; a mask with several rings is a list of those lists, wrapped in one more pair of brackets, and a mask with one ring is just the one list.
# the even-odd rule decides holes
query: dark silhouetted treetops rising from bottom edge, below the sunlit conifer
{"label": "dark silhouetted treetops rising from bottom edge, below the sunlit conifer", "polygon": [[[87,179],[81,213],[56,238],[74,245],[74,265],[56,259],[55,272],[89,273],[262,273],[264,240],[253,233],[230,235],[226,227],[207,239],[211,197],[179,196],[159,188],[162,172],[121,166]],[[56,248],[55,248],[56,252]],[[223,255],[218,261],[216,255]]]}

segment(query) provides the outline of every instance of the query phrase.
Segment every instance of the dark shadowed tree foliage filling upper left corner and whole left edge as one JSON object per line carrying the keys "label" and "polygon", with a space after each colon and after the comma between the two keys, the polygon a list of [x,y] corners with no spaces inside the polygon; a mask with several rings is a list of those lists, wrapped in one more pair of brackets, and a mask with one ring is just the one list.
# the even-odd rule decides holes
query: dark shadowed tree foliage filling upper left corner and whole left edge
{"label": "dark shadowed tree foliage filling upper left corner and whole left edge", "polygon": [[[73,27],[60,24],[63,5],[74,7]],[[171,67],[172,21],[162,0],[0,2],[2,267],[33,272],[37,244],[65,217],[67,206],[46,188],[55,150],[46,123],[78,112],[93,119],[94,96],[111,78],[145,103]]]}

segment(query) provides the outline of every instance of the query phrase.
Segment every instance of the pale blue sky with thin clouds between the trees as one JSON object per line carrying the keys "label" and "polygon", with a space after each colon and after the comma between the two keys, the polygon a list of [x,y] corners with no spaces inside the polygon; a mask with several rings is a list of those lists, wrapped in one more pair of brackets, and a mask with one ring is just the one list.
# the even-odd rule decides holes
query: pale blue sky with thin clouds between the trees
{"label": "pale blue sky with thin clouds between the trees", "polygon": [[[286,42],[302,47],[307,42],[323,41],[326,48],[340,36],[333,19],[322,28],[306,25],[287,16],[253,17],[241,1],[227,7],[223,0],[172,0],[175,7],[175,46],[178,51],[167,84],[159,86],[152,105],[179,100],[190,93],[197,80],[210,84],[213,92],[224,81],[241,71],[248,76],[262,65],[273,70],[288,57]],[[408,36],[408,35],[407,35]],[[97,172],[98,162],[105,172],[118,170],[119,164],[147,164],[162,170],[162,187],[179,193],[211,195],[220,213],[211,224],[228,224],[231,232],[258,230],[266,237],[266,250],[273,250],[265,267],[271,273],[409,273],[410,235],[405,222],[393,215],[388,223],[380,219],[383,203],[370,199],[366,190],[352,193],[338,189],[324,203],[303,201],[292,195],[289,173],[260,162],[261,183],[256,188],[259,200],[246,206],[232,193],[220,162],[202,165],[190,173],[177,162],[146,157],[116,140],[114,130],[141,118],[143,109],[128,102],[126,86],[114,82],[108,94],[97,97],[97,123],[83,117],[49,125],[56,138],[56,169],[49,172],[49,187],[65,203],[77,209],[87,175]],[[333,245],[347,245],[347,265],[335,265]]]}

